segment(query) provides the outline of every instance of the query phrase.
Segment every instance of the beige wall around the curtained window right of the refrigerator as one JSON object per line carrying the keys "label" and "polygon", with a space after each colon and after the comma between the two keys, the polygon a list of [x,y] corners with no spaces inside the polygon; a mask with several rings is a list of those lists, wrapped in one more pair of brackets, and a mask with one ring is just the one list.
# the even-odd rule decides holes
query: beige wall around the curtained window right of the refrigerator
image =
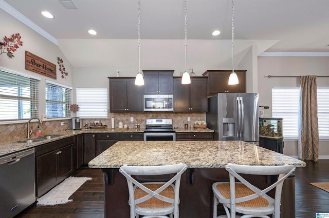
{"label": "beige wall around the curtained window right of the refrigerator", "polygon": [[[258,57],[258,90],[260,105],[269,106],[264,109],[267,117],[272,115],[272,87],[300,87],[299,77],[272,77],[268,75],[326,75],[329,73],[329,57]],[[328,87],[329,77],[319,77],[318,87]],[[288,93],[287,93],[288,94]],[[284,121],[283,121],[284,122]],[[297,141],[285,141],[283,153],[297,156]],[[329,158],[328,141],[319,142],[320,158]]]}

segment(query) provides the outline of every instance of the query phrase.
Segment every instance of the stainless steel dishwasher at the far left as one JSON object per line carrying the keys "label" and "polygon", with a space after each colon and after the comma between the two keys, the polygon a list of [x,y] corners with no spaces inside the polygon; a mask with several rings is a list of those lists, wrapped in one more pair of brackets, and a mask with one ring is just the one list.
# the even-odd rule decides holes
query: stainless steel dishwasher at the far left
{"label": "stainless steel dishwasher at the far left", "polygon": [[35,202],[35,149],[0,157],[1,217],[12,218]]}

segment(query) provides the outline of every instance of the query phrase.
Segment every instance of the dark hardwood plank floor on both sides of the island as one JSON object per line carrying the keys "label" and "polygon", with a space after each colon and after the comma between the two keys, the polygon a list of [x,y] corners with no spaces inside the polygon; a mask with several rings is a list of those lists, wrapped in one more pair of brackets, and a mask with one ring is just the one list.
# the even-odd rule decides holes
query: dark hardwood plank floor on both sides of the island
{"label": "dark hardwood plank floor on both sides of the island", "polygon": [[[103,173],[99,169],[83,168],[74,176],[93,180],[85,182],[70,197],[72,202],[56,206],[34,204],[15,218],[103,218]],[[306,167],[296,169],[295,176],[296,218],[313,218],[316,212],[329,213],[329,193],[309,184],[329,182],[329,160],[307,161]]]}

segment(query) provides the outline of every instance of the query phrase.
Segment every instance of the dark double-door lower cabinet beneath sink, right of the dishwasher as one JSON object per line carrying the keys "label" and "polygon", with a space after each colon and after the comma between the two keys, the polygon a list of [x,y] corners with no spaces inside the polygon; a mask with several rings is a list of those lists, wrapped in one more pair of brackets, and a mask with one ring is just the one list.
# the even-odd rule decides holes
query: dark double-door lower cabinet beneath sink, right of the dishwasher
{"label": "dark double-door lower cabinet beneath sink, right of the dishwasher", "polygon": [[40,197],[72,174],[74,137],[36,147],[36,192]]}

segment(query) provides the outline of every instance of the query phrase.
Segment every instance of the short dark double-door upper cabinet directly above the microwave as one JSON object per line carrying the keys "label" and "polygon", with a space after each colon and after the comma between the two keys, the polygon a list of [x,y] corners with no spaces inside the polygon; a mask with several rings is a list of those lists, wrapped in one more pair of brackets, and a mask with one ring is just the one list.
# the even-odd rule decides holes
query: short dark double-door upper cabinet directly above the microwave
{"label": "short dark double-door upper cabinet directly above the microwave", "polygon": [[173,94],[173,70],[143,70],[144,94]]}

